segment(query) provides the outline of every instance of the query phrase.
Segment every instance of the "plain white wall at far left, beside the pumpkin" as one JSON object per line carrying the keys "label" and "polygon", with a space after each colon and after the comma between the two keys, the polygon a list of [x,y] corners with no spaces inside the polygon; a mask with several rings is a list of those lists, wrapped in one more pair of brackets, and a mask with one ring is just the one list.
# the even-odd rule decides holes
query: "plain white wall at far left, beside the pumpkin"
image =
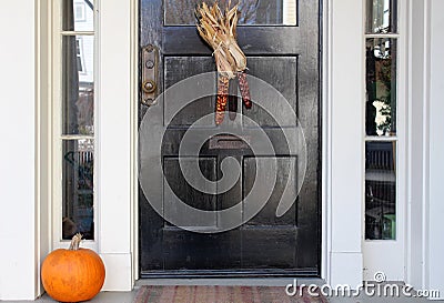
{"label": "plain white wall at far left, beside the pumpkin", "polygon": [[36,297],[33,0],[0,10],[0,300]]}

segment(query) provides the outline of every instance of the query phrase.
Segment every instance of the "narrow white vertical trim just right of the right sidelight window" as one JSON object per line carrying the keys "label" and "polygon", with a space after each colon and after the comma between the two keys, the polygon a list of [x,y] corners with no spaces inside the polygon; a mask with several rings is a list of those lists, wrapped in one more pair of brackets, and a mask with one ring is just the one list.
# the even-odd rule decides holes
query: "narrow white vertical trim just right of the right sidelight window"
{"label": "narrow white vertical trim just right of the right sidelight window", "polygon": [[428,210],[428,65],[430,0],[408,1],[408,205],[406,282],[425,287],[426,222]]}

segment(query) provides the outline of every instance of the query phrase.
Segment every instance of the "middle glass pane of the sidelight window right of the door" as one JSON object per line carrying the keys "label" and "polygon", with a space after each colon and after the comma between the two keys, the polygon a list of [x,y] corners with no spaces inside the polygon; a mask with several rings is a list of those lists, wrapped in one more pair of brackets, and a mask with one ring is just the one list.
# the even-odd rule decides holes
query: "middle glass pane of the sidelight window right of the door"
{"label": "middle glass pane of the sidelight window right of the door", "polygon": [[367,135],[396,135],[396,40],[366,40]]}

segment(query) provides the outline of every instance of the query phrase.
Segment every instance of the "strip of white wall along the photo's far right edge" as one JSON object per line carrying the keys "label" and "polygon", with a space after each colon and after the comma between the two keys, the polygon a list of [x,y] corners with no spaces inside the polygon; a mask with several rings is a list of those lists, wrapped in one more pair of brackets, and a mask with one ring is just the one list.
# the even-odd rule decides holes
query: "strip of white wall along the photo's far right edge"
{"label": "strip of white wall along the photo's far right edge", "polygon": [[431,2],[430,215],[427,287],[444,297],[444,1]]}

